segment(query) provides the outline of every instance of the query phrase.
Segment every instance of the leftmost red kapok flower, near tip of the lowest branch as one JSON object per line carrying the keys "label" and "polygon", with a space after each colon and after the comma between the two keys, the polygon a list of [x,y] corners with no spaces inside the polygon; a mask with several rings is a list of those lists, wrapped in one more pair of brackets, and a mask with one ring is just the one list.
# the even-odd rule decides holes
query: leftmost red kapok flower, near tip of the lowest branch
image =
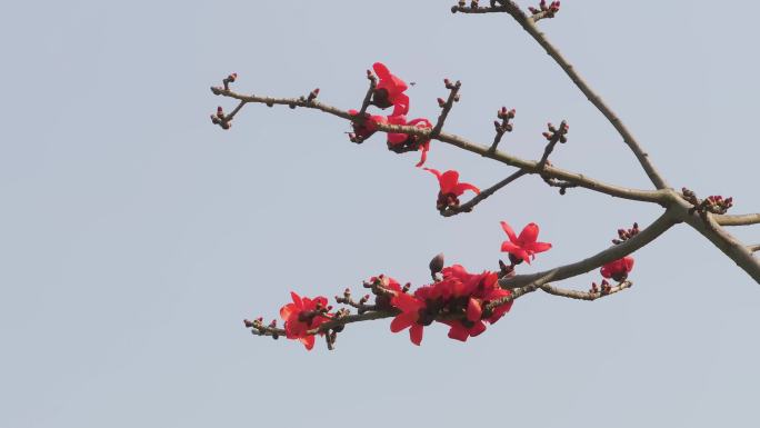
{"label": "leftmost red kapok flower, near tip of the lowest branch", "polygon": [[300,340],[308,350],[311,350],[314,347],[314,335],[308,331],[328,321],[328,318],[323,316],[324,309],[328,308],[328,300],[322,296],[313,299],[301,298],[293,291],[290,292],[290,297],[293,302],[280,309],[280,317],[286,321],[286,337]]}

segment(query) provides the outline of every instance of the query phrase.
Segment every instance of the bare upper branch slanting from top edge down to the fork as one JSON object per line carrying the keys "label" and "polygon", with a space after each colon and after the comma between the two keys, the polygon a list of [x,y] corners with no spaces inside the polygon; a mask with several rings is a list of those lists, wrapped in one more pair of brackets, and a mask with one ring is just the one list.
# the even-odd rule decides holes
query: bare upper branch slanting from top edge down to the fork
{"label": "bare upper branch slanting from top edge down to the fork", "polygon": [[612,125],[612,127],[620,133],[623,141],[631,149],[639,163],[643,168],[649,179],[652,181],[654,187],[658,189],[668,188],[668,183],[660,176],[660,173],[654,168],[654,165],[649,159],[649,153],[644,152],[633,135],[628,130],[626,125],[620,120],[620,118],[612,111],[610,107],[597,94],[591,87],[581,78],[581,76],[576,71],[574,67],[568,62],[562,53],[547,39],[547,37],[538,29],[536,22],[531,17],[527,16],[520,7],[512,0],[501,1],[502,6],[491,7],[491,8],[468,8],[461,6],[454,6],[451,8],[452,12],[463,12],[463,13],[493,13],[493,12],[507,12],[509,13],[542,48],[547,53],[557,62],[566,74],[572,80],[573,83],[580,89],[581,92],[588,98],[589,101],[607,118],[607,120]]}

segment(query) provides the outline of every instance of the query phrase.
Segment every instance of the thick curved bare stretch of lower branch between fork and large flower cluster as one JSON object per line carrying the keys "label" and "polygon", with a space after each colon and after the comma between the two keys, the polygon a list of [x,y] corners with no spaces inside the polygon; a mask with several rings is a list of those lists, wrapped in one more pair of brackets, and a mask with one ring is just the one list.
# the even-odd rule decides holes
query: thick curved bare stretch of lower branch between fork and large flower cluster
{"label": "thick curved bare stretch of lower branch between fork and large flower cluster", "polygon": [[574,263],[560,266],[558,268],[537,273],[518,275],[512,278],[503,278],[499,280],[499,283],[503,288],[513,289],[536,281],[543,281],[543,283],[546,283],[549,281],[559,281],[590,272],[591,270],[599,269],[602,267],[602,265],[621,259],[640,249],[641,247],[657,239],[660,235],[664,233],[678,221],[679,220],[673,217],[671,210],[669,209],[657,220],[654,220],[654,222],[652,222],[648,228],[641,230],[639,233],[620,245],[612,246],[601,252]]}

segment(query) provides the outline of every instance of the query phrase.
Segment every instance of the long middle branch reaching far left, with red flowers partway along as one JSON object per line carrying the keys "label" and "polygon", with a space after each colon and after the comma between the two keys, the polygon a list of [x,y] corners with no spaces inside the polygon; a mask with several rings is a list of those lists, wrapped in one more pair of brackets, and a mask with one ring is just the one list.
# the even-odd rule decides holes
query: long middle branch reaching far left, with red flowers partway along
{"label": "long middle branch reaching far left, with red flowers partway along", "polygon": [[[323,111],[326,113],[330,113],[333,116],[337,116],[342,119],[351,120],[351,121],[358,121],[359,118],[356,116],[350,115],[346,110],[341,110],[337,107],[332,107],[329,104],[326,104],[319,100],[312,100],[310,102],[307,102],[304,99],[299,99],[299,98],[273,98],[273,97],[266,97],[266,96],[254,96],[254,94],[241,94],[237,93],[231,90],[226,90],[223,88],[219,87],[212,87],[211,92],[213,92],[217,96],[223,96],[227,98],[232,98],[237,99],[239,101],[246,101],[247,103],[263,103],[267,106],[274,106],[274,104],[280,104],[280,106],[289,106],[291,108],[297,108],[297,107],[302,107],[302,108],[309,108],[309,109],[316,109]],[[420,136],[420,137],[430,137],[431,129],[429,128],[418,128],[418,127],[411,127],[411,126],[400,126],[400,125],[388,125],[388,123],[377,123],[377,129],[382,131],[382,132],[398,132],[398,133],[407,133],[410,136]],[[493,160],[497,160],[499,162],[520,168],[526,170],[528,173],[538,173],[538,175],[546,175],[551,178],[556,178],[558,180],[563,180],[568,181],[570,183],[577,185],[579,187],[598,191],[601,193],[606,193],[609,196],[618,197],[618,198],[623,198],[623,199],[630,199],[630,200],[638,200],[638,201],[643,201],[643,202],[652,202],[652,203],[659,203],[663,205],[664,201],[667,200],[667,195],[661,191],[661,190],[640,190],[640,189],[629,189],[629,188],[623,188],[619,186],[613,186],[613,185],[608,185],[606,182],[589,178],[582,173],[578,172],[571,172],[567,171],[560,168],[556,167],[546,167],[542,170],[540,170],[538,167],[537,161],[532,160],[524,160],[520,159],[517,157],[513,157],[511,155],[501,152],[501,151],[491,151],[489,147],[471,142],[462,137],[452,135],[452,133],[447,133],[447,132],[441,132],[436,140],[442,141],[456,147],[459,147],[460,149],[464,149],[467,151],[480,155],[486,158],[490,158]]]}

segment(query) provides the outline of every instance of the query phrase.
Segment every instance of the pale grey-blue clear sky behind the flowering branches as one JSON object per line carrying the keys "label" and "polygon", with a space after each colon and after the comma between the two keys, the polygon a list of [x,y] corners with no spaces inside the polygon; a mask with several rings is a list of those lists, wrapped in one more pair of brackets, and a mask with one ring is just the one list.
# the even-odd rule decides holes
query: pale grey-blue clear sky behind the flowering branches
{"label": "pale grey-blue clear sky behind the flowering branches", "polygon": [[[499,227],[530,221],[554,248],[521,272],[606,248],[658,207],[524,178],[441,218],[438,183],[377,136],[248,106],[230,131],[210,93],[236,89],[356,108],[374,61],[417,84],[447,130],[630,187],[646,175],[601,115],[508,17],[450,1],[16,1],[0,16],[0,426],[757,427],[760,287],[688,227],[636,253],[631,290],[581,302],[537,292],[461,344],[421,347],[389,321],[336,351],[252,337],[289,291],[332,297],[388,273],[420,285],[444,252],[494,269]],[[521,6],[530,6],[520,1]],[[677,188],[760,209],[754,130],[760,3],[563,1],[540,27],[629,125]],[[428,166],[482,188],[512,172],[443,143]],[[748,243],[760,229],[732,229]],[[562,283],[587,289],[593,273]]]}

